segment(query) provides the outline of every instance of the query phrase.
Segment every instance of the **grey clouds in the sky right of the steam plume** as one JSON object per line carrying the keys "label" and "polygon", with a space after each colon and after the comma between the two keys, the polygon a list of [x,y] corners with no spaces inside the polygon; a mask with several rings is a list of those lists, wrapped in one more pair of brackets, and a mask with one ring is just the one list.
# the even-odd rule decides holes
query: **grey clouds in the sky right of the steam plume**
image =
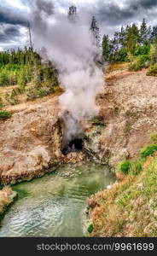
{"label": "grey clouds in the sky right of the steam plume", "polygon": [[157,0],[125,0],[123,5],[120,1],[109,2],[97,0],[96,3],[87,4],[84,2],[80,6],[80,11],[95,15],[98,20],[98,26],[101,28],[102,35],[119,30],[119,26],[126,26],[131,23],[139,23],[143,18],[151,25],[157,23]]}

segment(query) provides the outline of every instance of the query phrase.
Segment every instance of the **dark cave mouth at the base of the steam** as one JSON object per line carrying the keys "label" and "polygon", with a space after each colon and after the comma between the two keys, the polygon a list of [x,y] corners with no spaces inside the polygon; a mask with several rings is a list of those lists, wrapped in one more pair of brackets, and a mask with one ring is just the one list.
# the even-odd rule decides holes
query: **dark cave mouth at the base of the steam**
{"label": "dark cave mouth at the base of the steam", "polygon": [[83,138],[75,138],[70,141],[67,147],[63,147],[61,149],[62,154],[67,155],[70,152],[78,152],[84,148],[84,141]]}

